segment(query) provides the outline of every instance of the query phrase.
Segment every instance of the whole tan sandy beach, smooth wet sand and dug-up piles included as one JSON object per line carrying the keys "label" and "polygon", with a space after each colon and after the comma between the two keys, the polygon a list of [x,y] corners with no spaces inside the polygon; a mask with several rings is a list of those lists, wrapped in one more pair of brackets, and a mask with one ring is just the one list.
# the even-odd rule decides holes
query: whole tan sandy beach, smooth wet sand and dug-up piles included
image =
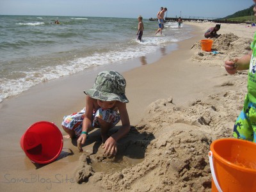
{"label": "whole tan sandy beach, smooth wet sand and dug-up piles included", "polygon": [[[255,28],[221,24],[221,36],[212,45],[218,53],[213,54],[201,50],[200,40],[215,24],[185,24],[195,28],[193,37],[150,65],[133,60],[131,68],[97,67],[1,102],[1,191],[211,191],[209,146],[218,138],[232,137],[247,86],[247,71],[230,76],[223,64],[250,51]],[[109,69],[127,81],[132,125],[118,141],[116,157],[104,157],[96,129],[83,153],[76,140],[64,139],[56,161],[31,163],[20,148],[26,129],[45,120],[65,135],[63,116],[84,107],[83,90],[92,86],[100,70]]]}

